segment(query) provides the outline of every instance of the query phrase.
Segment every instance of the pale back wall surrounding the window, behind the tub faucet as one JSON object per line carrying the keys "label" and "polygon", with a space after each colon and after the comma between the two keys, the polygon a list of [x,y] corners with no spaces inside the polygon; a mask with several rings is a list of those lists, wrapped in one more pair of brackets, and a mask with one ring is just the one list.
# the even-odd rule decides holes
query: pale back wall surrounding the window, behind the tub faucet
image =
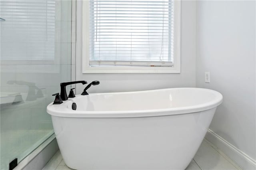
{"label": "pale back wall surrounding the window, behind the tub faucet", "polygon": [[[88,92],[138,91],[196,86],[196,2],[182,1],[181,73],[179,74],[82,74],[81,1],[77,1],[76,80],[99,80]],[[84,89],[76,85],[76,93]]]}

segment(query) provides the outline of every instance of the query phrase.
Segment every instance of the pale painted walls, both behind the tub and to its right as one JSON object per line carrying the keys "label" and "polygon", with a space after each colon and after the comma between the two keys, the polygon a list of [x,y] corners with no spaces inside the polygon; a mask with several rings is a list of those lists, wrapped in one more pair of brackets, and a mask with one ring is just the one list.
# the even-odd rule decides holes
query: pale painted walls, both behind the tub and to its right
{"label": "pale painted walls, both behind the tub and to its right", "polygon": [[[82,74],[81,3],[77,2],[76,68],[73,69],[76,80],[100,81],[89,93],[168,87],[214,89],[222,93],[224,101],[210,129],[255,159],[254,1],[182,1],[180,74]],[[204,83],[205,71],[210,71],[211,83]],[[76,93],[80,94],[84,86],[76,87]]]}

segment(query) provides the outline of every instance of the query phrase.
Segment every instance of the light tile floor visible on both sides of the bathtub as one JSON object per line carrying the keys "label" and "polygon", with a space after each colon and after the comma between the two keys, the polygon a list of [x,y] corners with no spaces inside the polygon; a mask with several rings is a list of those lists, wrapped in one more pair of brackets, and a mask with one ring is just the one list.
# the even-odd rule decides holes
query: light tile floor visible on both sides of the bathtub
{"label": "light tile floor visible on both sides of the bathtub", "polygon": [[[72,170],[66,166],[60,151],[46,164],[43,170]],[[242,170],[216,146],[204,139],[186,170]]]}

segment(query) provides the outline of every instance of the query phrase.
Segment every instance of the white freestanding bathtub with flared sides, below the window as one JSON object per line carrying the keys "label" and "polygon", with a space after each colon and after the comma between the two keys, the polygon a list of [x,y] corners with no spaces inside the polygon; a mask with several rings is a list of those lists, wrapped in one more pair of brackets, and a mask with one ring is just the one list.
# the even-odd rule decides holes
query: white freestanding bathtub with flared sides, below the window
{"label": "white freestanding bathtub with flared sides, below the window", "polygon": [[77,95],[47,112],[70,168],[184,170],[220,103],[217,91],[172,88]]}

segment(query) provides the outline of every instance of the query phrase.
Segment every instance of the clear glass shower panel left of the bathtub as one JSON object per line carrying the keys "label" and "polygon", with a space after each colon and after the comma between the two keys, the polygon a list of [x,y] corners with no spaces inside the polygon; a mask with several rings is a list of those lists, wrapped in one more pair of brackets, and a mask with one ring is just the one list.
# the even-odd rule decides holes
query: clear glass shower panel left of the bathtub
{"label": "clear glass shower panel left of the bathtub", "polygon": [[0,169],[54,132],[46,106],[71,81],[72,1],[0,0]]}

